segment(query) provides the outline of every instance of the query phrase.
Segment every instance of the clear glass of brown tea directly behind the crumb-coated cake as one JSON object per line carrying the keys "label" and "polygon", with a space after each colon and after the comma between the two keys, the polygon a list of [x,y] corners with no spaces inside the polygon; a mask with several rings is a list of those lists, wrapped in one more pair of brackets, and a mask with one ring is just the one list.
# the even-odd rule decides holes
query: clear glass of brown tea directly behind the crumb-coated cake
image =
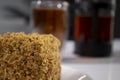
{"label": "clear glass of brown tea directly behind the crumb-coated cake", "polygon": [[33,31],[53,34],[61,43],[67,34],[68,3],[57,0],[37,0],[32,2]]}

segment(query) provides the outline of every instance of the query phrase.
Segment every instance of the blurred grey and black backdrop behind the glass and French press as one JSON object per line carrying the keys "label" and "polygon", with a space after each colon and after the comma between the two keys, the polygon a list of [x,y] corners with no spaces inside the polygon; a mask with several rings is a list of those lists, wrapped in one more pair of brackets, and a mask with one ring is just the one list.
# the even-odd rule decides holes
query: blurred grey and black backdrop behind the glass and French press
{"label": "blurred grey and black backdrop behind the glass and French press", "polygon": [[[30,3],[32,0],[0,0],[0,33],[7,31],[30,32]],[[74,11],[75,0],[66,0],[69,2],[69,36],[68,39],[74,39]],[[120,1],[116,0],[114,38],[120,38]]]}

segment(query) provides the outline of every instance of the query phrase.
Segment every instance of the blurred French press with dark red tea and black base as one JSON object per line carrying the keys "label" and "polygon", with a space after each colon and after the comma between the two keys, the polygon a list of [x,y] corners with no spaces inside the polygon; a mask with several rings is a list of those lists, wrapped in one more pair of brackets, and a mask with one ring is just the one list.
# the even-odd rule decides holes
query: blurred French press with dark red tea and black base
{"label": "blurred French press with dark red tea and black base", "polygon": [[108,57],[112,53],[115,0],[79,0],[75,16],[75,53]]}

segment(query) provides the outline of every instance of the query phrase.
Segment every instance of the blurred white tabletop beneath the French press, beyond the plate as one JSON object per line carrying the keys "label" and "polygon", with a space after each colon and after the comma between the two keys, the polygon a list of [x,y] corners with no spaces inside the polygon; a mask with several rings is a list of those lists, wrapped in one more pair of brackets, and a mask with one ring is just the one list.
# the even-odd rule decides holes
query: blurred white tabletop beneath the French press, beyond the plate
{"label": "blurred white tabletop beneath the French press, beyond the plate", "polygon": [[119,80],[120,40],[113,41],[111,57],[90,58],[74,55],[74,42],[66,41],[61,51],[62,65],[88,74],[93,80]]}

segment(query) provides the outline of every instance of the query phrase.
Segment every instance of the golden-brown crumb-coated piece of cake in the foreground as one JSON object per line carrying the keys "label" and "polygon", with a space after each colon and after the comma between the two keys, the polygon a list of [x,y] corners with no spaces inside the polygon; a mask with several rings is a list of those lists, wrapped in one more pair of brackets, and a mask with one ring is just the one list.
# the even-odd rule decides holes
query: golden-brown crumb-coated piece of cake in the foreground
{"label": "golden-brown crumb-coated piece of cake in the foreground", "polygon": [[0,35],[0,80],[60,80],[59,46],[52,35]]}

